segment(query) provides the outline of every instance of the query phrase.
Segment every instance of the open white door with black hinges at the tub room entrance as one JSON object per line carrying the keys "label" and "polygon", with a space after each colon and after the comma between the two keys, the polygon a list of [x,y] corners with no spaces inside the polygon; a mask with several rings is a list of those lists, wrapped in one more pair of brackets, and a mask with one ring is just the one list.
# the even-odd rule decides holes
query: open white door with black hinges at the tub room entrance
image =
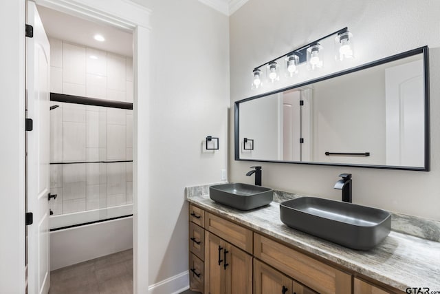
{"label": "open white door with black hinges at the tub room entrance", "polygon": [[26,38],[26,89],[28,118],[34,129],[28,136],[28,211],[34,223],[28,226],[28,291],[49,291],[49,108],[50,45],[34,2],[28,1],[27,23],[34,37]]}

